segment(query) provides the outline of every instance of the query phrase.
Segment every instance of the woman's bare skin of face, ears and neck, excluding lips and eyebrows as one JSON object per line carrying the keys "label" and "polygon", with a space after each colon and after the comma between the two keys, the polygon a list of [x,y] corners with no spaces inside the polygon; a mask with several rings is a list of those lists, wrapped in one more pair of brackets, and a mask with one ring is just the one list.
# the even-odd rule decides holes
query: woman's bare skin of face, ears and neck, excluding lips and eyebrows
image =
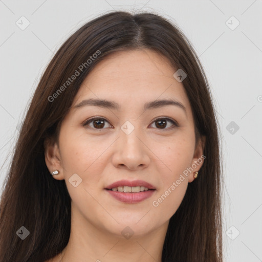
{"label": "woman's bare skin of face, ears and neck, excluding lips and eyebrows", "polygon": [[[49,170],[59,170],[53,178],[65,180],[72,199],[69,243],[49,262],[161,261],[170,217],[204,162],[170,190],[201,159],[205,144],[205,138],[195,141],[190,102],[174,72],[169,60],[153,51],[121,51],[97,64],[80,86],[59,142],[45,151]],[[90,98],[111,100],[120,108],[73,108]],[[176,105],[143,110],[145,103],[162,99],[179,101],[185,111]],[[82,126],[91,117],[104,122],[95,119]],[[161,128],[159,118],[164,117],[179,126],[166,119]],[[134,126],[128,135],[121,129],[126,121]],[[74,173],[82,179],[77,187],[69,182]],[[139,203],[123,203],[105,190],[122,179],[143,180],[156,190]],[[157,201],[168,188],[168,196]],[[126,227],[134,232],[128,239],[121,233]]]}

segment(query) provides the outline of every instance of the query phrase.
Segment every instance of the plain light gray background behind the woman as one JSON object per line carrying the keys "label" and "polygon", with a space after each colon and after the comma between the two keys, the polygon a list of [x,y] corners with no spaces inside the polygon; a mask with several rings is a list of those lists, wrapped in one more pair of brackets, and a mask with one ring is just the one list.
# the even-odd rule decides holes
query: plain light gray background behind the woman
{"label": "plain light gray background behind the woman", "polygon": [[[157,12],[174,21],[193,44],[220,122],[225,261],[262,261],[261,0],[0,1],[0,185],[19,123],[53,53],[86,21],[113,9]],[[26,25],[21,16],[30,22],[25,30],[16,25]]]}

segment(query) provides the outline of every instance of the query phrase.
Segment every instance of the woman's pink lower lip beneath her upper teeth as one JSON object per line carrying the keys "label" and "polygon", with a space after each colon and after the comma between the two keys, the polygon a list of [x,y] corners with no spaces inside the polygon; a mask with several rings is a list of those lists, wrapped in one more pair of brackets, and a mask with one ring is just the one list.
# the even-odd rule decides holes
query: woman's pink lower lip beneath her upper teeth
{"label": "woman's pink lower lip beneath her upper teeth", "polygon": [[112,191],[112,190],[107,190],[107,189],[105,190],[108,193],[110,193],[113,198],[121,202],[127,203],[127,204],[135,204],[145,199],[148,199],[156,191],[156,190],[148,190],[148,191],[143,191],[143,192],[138,192],[138,193],[124,193],[124,192]]}

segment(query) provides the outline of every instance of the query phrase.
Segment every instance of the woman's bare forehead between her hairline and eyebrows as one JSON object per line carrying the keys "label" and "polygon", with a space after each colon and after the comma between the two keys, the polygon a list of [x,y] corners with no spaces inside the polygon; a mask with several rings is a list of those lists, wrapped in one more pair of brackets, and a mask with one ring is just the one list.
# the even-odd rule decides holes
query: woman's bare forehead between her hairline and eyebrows
{"label": "woman's bare forehead between her hairline and eyebrows", "polygon": [[171,98],[190,107],[174,72],[171,62],[157,52],[118,51],[95,66],[81,84],[73,105],[86,98],[113,100],[123,106]]}

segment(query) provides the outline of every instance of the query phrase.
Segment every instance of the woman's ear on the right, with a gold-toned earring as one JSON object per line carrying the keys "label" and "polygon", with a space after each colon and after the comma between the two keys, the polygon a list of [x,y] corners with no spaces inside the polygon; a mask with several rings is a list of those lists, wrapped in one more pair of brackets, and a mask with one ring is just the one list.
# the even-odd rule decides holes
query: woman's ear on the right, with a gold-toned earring
{"label": "woman's ear on the right, with a gold-toned earring", "polygon": [[190,173],[188,182],[194,181],[194,172],[198,172],[204,163],[206,156],[203,155],[206,144],[206,136],[201,136],[194,149],[194,156],[191,162],[191,168],[193,171]]}

